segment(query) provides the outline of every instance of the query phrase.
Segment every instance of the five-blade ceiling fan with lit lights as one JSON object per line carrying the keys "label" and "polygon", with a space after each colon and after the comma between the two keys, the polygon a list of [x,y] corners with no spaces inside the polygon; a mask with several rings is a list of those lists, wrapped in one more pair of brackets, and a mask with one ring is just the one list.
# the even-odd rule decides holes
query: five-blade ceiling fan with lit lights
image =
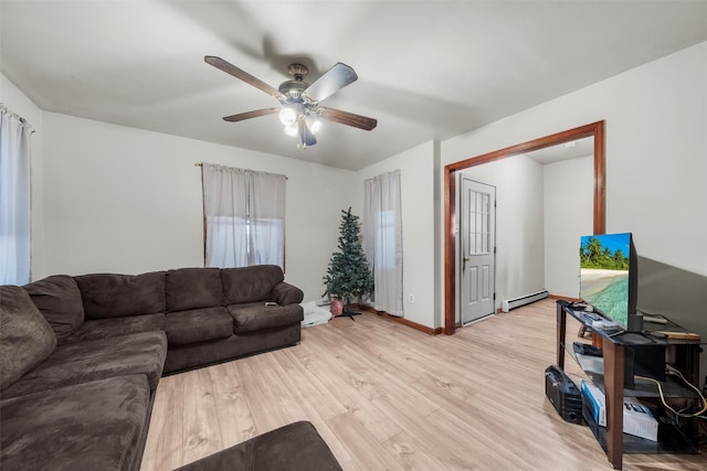
{"label": "five-blade ceiling fan with lit lights", "polygon": [[260,116],[278,114],[281,122],[285,126],[285,133],[299,138],[297,149],[305,149],[307,146],[317,143],[315,133],[321,127],[321,118],[367,131],[370,131],[378,125],[378,121],[373,118],[319,106],[321,100],[358,79],[356,72],[340,62],[325,72],[324,75],[313,84],[304,81],[309,72],[307,67],[297,63],[291,64],[287,72],[292,76],[292,79],[283,82],[278,88],[274,88],[221,57],[207,55],[203,60],[207,64],[213,65],[226,74],[231,74],[277,98],[281,105],[277,108],[255,109],[253,111],[226,116],[223,118],[224,120],[236,122]]}

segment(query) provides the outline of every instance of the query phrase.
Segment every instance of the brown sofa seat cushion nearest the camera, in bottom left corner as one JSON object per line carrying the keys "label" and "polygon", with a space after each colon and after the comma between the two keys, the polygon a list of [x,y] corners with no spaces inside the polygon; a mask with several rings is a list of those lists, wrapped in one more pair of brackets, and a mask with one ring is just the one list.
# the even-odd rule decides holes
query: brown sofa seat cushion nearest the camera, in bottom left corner
{"label": "brown sofa seat cushion nearest the camera, in bottom left corner", "polygon": [[0,402],[3,470],[128,470],[149,414],[145,375]]}

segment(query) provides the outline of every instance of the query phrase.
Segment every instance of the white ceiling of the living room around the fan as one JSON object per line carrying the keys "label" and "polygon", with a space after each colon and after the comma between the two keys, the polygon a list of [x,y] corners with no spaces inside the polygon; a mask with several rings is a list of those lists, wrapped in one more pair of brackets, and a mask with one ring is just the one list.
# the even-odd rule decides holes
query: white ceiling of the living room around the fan
{"label": "white ceiling of the living room around the fan", "polygon": [[[44,110],[352,170],[707,41],[700,0],[0,1],[0,71]],[[378,127],[298,152],[276,115],[225,122],[277,101],[204,55],[275,87],[344,62],[324,104]]]}

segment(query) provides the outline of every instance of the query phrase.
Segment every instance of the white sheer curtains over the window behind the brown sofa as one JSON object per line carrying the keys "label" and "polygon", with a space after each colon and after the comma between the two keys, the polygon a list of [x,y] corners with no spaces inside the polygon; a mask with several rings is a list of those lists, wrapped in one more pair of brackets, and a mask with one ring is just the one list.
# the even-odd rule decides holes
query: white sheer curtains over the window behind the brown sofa
{"label": "white sheer curtains over the window behind the brown sofa", "polygon": [[284,175],[203,163],[205,266],[285,266]]}

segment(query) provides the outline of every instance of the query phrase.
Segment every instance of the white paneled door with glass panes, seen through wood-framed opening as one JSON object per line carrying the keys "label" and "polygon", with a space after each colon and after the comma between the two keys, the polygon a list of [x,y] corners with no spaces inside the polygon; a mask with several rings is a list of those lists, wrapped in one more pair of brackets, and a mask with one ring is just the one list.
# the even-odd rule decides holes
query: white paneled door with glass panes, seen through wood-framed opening
{"label": "white paneled door with glass panes, seen through wood-framed opening", "polygon": [[496,188],[461,175],[462,324],[495,311]]}

